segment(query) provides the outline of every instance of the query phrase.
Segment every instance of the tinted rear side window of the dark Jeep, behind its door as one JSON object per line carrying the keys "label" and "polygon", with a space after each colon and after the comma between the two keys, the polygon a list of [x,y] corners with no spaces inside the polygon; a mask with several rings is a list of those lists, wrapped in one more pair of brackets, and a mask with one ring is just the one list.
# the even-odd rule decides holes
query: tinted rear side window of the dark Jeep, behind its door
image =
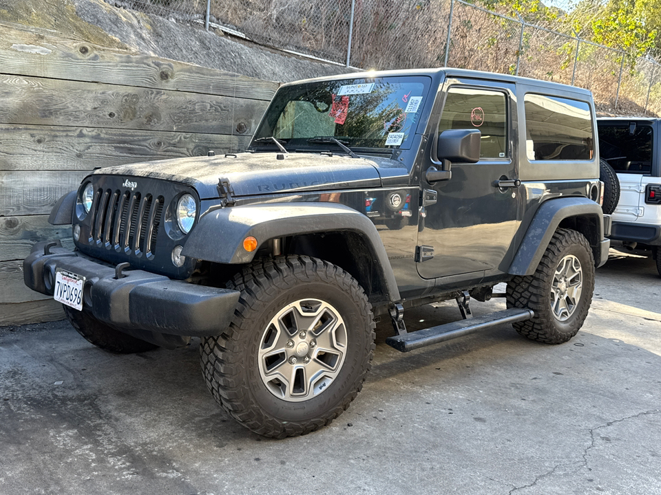
{"label": "tinted rear side window of the dark Jeep, behind its door", "polygon": [[589,160],[594,157],[592,115],[587,102],[527,94],[525,151],[529,160]]}

